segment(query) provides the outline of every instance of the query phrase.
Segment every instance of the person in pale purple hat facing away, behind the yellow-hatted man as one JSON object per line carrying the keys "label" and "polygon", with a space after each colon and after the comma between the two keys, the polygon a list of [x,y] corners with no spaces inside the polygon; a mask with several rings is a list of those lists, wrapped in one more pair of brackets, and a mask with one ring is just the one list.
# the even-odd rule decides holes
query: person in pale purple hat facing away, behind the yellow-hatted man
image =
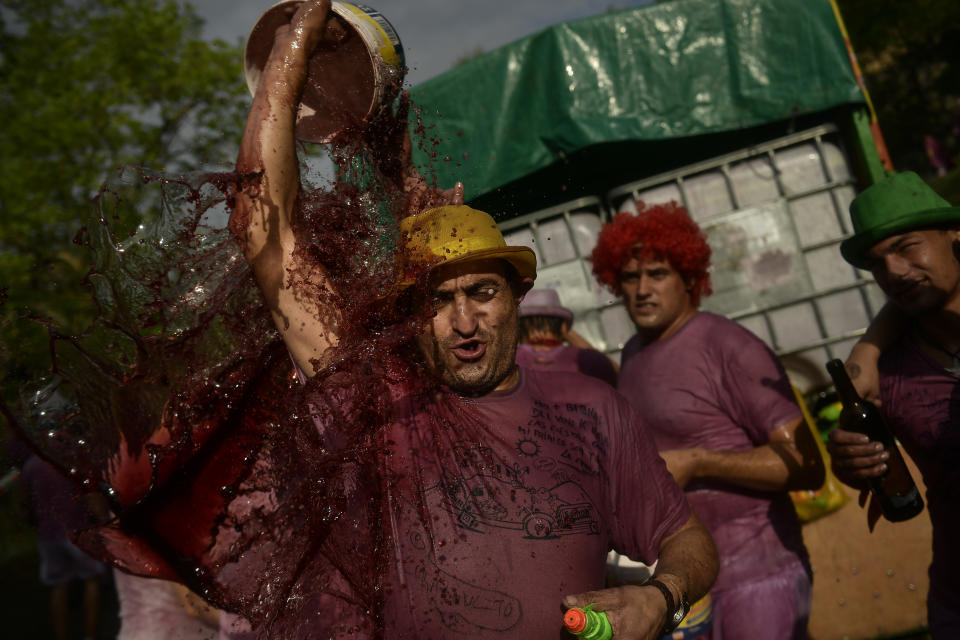
{"label": "person in pale purple hat facing away, behind the yellow-hatted man", "polygon": [[531,289],[520,303],[517,364],[530,369],[576,371],[617,386],[617,369],[607,356],[573,330],[573,312],[554,289]]}

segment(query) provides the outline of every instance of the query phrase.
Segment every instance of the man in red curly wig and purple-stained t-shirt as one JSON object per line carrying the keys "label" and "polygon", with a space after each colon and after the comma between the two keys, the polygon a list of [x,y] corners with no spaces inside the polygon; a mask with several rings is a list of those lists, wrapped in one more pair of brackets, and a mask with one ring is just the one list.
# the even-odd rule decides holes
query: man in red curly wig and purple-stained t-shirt
{"label": "man in red curly wig and purple-stained t-shirt", "polygon": [[806,638],[811,572],[788,491],[818,488],[824,470],[783,367],[752,333],[700,311],[710,246],[683,207],[616,215],[592,261],[637,327],[618,389],[717,543],[713,638]]}

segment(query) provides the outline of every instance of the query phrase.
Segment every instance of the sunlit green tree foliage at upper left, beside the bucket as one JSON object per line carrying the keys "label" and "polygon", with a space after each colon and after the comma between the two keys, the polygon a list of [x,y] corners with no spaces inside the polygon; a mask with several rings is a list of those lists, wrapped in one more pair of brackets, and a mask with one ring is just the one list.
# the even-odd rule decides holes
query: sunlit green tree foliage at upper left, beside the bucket
{"label": "sunlit green tree foliage at upper left, beside the bucket", "polygon": [[[201,39],[173,0],[0,0],[0,362],[42,355],[28,312],[83,328],[73,239],[121,165],[222,168],[249,100],[239,44]],[[136,215],[138,207],[130,207]],[[140,213],[144,203],[140,203]]]}

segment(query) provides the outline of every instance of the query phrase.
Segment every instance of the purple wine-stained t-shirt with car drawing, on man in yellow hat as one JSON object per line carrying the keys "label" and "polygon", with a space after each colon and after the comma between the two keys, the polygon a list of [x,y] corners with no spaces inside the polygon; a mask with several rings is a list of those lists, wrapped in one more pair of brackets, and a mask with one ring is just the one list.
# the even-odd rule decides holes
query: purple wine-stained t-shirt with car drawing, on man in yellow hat
{"label": "purple wine-stained t-shirt with car drawing, on man in yellow hat", "polygon": [[[482,398],[402,396],[384,434],[388,638],[563,638],[607,551],[651,563],[690,516],[611,387],[521,369]],[[339,636],[338,636],[339,637]]]}

